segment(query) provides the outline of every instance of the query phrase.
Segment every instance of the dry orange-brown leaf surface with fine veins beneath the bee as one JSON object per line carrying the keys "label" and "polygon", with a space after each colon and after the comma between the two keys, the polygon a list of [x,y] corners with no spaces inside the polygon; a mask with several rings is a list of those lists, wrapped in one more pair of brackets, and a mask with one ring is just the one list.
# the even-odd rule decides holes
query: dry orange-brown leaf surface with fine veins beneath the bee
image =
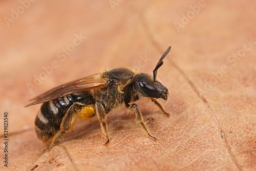
{"label": "dry orange-brown leaf surface with fine veins beneath the bee", "polygon": [[[113,9],[110,2],[118,5]],[[255,2],[205,1],[197,13],[191,8],[198,1],[35,1],[24,12],[19,1],[0,4],[0,169],[256,169]],[[5,17],[12,17],[12,9],[21,12],[8,27]],[[182,23],[182,14],[190,19],[178,31],[175,23]],[[62,48],[72,48],[79,35],[86,38],[64,58]],[[250,39],[253,43],[244,47]],[[28,99],[104,67],[151,73],[168,46],[172,50],[158,76],[170,91],[161,102],[171,116],[150,101],[137,103],[157,141],[123,107],[109,114],[108,147],[95,118],[78,121],[60,144],[42,153],[49,142],[42,143],[34,131],[40,105],[24,108]],[[236,53],[241,57],[232,56]],[[43,67],[53,61],[57,67],[30,91],[28,83],[44,76]],[[3,164],[5,111],[8,168]]]}

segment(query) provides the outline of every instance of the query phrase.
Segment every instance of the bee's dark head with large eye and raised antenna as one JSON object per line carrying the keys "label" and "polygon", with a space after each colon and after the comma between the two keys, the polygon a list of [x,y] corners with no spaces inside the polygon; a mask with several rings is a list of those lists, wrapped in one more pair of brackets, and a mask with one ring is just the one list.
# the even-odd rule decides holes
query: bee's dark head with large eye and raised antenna
{"label": "bee's dark head with large eye and raised antenna", "polygon": [[144,73],[137,74],[134,77],[133,86],[136,88],[136,92],[141,97],[152,97],[152,98],[162,98],[167,100],[168,89],[163,86],[163,84],[156,80],[157,77],[157,70],[163,65],[163,58],[167,55],[170,51],[170,47],[167,51],[163,54],[160,58],[159,62],[157,63],[156,68],[153,71],[153,78],[152,76]]}

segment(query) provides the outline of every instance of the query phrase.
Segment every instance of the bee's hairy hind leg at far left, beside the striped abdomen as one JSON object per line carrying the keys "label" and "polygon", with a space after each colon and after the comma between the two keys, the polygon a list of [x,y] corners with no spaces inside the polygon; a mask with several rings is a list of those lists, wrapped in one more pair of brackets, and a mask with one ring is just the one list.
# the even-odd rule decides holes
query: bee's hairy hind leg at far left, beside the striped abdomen
{"label": "bee's hairy hind leg at far left, beside the striped abdomen", "polygon": [[[51,149],[54,145],[56,145],[63,137],[63,135],[72,128],[77,119],[78,113],[84,108],[84,106],[87,105],[77,102],[73,103],[73,105],[70,106],[70,108],[68,109],[68,111],[66,112],[65,116],[61,121],[60,130],[54,135],[51,145],[47,149]],[[47,149],[45,149],[45,151]]]}

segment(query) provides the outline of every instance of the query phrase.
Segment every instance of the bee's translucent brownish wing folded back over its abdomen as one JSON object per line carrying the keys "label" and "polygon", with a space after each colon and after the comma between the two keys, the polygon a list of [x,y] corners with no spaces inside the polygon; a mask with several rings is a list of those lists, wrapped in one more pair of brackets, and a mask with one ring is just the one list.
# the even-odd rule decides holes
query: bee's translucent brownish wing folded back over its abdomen
{"label": "bee's translucent brownish wing folded back over its abdomen", "polygon": [[95,78],[95,75],[97,74],[84,77],[81,79],[77,79],[77,80],[62,84],[58,87],[55,87],[49,90],[48,92],[45,92],[33,99],[30,99],[30,101],[33,101],[33,102],[26,105],[25,107],[38,104],[38,103],[44,103],[44,102],[54,100],[56,98],[66,96],[72,93],[108,87],[108,82],[107,82],[109,80],[108,78],[97,79]]}

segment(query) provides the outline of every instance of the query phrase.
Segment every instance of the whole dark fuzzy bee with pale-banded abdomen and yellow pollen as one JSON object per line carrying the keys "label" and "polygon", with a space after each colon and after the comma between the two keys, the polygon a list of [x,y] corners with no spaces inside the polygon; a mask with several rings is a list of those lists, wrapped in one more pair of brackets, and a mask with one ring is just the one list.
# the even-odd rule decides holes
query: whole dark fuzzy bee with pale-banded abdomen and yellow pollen
{"label": "whole dark fuzzy bee with pale-banded abdomen and yellow pollen", "polygon": [[156,100],[167,100],[168,89],[157,81],[156,77],[157,70],[163,65],[162,60],[169,51],[170,47],[157,63],[153,76],[126,68],[116,68],[62,84],[31,99],[33,102],[25,107],[43,103],[35,119],[37,137],[44,142],[53,137],[48,147],[50,149],[72,128],[77,118],[89,119],[96,115],[106,139],[104,145],[108,145],[110,138],[107,115],[124,103],[127,111],[135,112],[136,121],[146,134],[156,140],[150,135],[138,105],[130,102],[148,97],[169,116]]}

